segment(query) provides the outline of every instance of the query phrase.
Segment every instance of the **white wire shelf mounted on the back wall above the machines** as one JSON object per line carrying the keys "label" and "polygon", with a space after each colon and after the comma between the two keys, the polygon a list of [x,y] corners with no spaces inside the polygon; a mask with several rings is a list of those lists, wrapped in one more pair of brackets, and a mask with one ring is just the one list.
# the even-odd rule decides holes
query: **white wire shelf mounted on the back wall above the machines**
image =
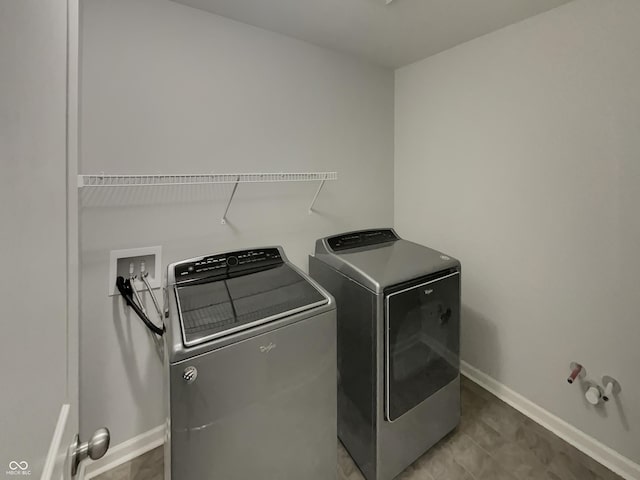
{"label": "white wire shelf mounted on the back wall above the machines", "polygon": [[321,182],[337,180],[337,172],[212,173],[202,175],[78,175],[78,188],[206,185],[215,183]]}

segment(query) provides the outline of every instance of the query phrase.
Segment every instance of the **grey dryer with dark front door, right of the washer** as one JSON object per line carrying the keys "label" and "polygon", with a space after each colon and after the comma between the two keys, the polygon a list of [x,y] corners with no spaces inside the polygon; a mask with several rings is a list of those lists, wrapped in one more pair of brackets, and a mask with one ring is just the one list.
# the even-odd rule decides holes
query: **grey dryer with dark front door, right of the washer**
{"label": "grey dryer with dark front door, right of the washer", "polygon": [[390,480],[460,420],[460,262],[392,229],[322,238],[309,273],[338,313],[338,436]]}

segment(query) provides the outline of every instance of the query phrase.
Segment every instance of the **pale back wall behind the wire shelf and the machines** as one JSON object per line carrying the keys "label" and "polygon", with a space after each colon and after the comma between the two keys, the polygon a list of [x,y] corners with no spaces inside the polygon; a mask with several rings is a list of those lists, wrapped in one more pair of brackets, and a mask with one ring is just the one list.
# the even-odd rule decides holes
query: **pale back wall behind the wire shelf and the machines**
{"label": "pale back wall behind the wire shelf and the machines", "polygon": [[109,251],[163,263],[393,222],[393,72],[166,0],[82,3],[80,173],[339,172],[316,184],[83,190],[81,430],[119,443],[163,421],[147,332],[106,296]]}

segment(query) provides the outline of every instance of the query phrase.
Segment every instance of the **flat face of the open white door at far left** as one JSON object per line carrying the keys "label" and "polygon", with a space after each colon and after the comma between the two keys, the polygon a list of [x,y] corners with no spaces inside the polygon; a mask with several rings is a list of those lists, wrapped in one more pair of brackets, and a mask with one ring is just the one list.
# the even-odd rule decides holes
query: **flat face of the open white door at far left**
{"label": "flat face of the open white door at far left", "polygon": [[67,395],[66,14],[0,0],[0,472],[31,478]]}

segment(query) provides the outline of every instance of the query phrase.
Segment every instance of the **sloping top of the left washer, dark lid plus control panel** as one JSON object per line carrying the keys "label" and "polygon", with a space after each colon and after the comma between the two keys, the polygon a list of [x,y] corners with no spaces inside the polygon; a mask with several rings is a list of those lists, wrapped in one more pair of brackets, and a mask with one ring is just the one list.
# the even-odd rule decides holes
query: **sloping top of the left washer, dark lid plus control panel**
{"label": "sloping top of the left washer, dark lid plus control panel", "polygon": [[186,347],[329,302],[278,248],[211,255],[173,267]]}

